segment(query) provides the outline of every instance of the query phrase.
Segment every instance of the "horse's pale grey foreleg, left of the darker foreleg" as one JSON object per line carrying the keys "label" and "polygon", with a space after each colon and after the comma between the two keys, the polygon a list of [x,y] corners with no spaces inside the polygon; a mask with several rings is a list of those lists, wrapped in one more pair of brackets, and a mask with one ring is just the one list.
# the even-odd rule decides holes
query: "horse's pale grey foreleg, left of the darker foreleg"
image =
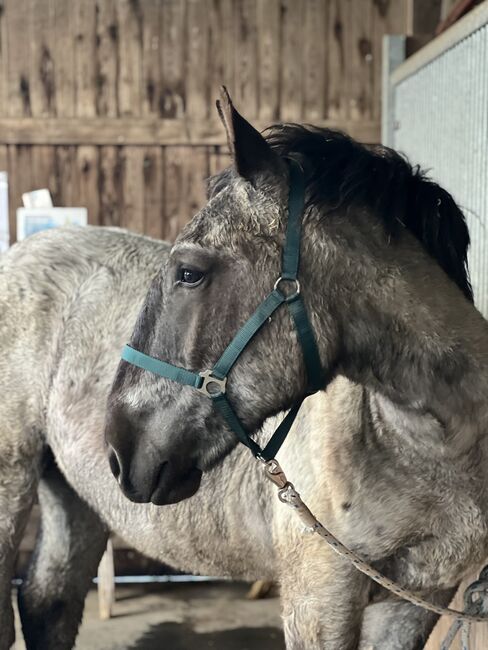
{"label": "horse's pale grey foreleg, left of the darker foreleg", "polygon": [[287,650],[357,650],[367,578],[315,535],[279,552]]}

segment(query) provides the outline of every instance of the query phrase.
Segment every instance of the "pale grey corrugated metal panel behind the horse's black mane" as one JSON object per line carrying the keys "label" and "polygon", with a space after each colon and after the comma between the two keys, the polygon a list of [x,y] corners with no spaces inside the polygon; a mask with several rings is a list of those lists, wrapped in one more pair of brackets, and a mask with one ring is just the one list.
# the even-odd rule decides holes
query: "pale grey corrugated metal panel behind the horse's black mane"
{"label": "pale grey corrugated metal panel behind the horse's black mane", "polygon": [[[486,9],[486,7],[485,7]],[[471,233],[475,300],[488,316],[488,12],[471,33],[398,69],[392,146],[454,196]],[[479,14],[481,15],[481,14]],[[485,24],[480,24],[484,22]],[[465,32],[466,30],[464,30]],[[435,46],[434,46],[435,47]]]}

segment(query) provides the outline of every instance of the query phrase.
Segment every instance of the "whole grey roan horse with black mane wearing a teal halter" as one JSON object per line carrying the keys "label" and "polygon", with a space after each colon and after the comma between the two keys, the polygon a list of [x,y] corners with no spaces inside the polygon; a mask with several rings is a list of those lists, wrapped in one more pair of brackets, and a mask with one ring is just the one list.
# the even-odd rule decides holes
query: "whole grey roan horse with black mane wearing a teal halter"
{"label": "whole grey roan horse with black mane wearing a teal halter", "polygon": [[[290,649],[423,646],[435,616],[304,535],[190,387],[122,363],[106,436],[133,500],[196,494],[131,503],[110,473],[107,396],[151,279],[132,345],[211,366],[279,273],[284,156],[308,174],[300,280],[330,382],[304,403],[280,462],[342,541],[433,601],[446,603],[487,554],[488,328],[471,302],[461,213],[391,151],[299,126],[265,142],[230,105],[225,115],[234,167],[211,179],[171,256],[164,243],[87,228],[41,233],[0,260],[2,650],[36,492],[42,529],[19,597],[30,650],[73,646],[107,529],[183,570],[276,580]],[[277,313],[228,382],[251,431],[303,393],[302,364]]]}

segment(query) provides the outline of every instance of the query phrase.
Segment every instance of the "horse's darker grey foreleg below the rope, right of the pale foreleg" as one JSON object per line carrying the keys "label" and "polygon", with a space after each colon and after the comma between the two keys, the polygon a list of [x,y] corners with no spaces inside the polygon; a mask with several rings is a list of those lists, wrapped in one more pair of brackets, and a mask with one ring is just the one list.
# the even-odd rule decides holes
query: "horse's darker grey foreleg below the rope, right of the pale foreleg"
{"label": "horse's darker grey foreleg below the rope, right of the pale foreleg", "polygon": [[[447,607],[456,589],[427,599]],[[360,650],[422,650],[439,616],[391,596],[369,605],[364,613]]]}

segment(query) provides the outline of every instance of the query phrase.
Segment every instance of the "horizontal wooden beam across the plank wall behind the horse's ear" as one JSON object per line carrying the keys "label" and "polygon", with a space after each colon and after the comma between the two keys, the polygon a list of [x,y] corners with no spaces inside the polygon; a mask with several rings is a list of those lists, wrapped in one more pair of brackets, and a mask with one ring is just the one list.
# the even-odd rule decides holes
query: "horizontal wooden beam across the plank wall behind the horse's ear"
{"label": "horizontal wooden beam across the plank wall behind the horse's ear", "polygon": [[[259,130],[269,122],[253,122]],[[379,121],[314,120],[361,142],[379,142]],[[220,122],[154,118],[3,118],[0,145],[221,145]]]}

